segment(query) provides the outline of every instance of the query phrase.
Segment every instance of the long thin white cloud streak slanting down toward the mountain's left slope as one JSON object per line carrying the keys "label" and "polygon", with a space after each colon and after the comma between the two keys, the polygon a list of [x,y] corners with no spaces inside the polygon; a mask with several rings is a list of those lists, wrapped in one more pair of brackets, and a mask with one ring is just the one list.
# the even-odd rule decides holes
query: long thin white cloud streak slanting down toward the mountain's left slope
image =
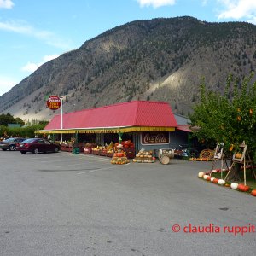
{"label": "long thin white cloud streak slanting down toward the mountain's left slope", "polygon": [[23,20],[0,22],[0,30],[16,32],[29,37],[38,38],[39,40],[44,41],[46,44],[53,45],[57,48],[70,49],[68,44],[69,42],[67,40],[62,40],[55,35],[54,32],[38,30]]}

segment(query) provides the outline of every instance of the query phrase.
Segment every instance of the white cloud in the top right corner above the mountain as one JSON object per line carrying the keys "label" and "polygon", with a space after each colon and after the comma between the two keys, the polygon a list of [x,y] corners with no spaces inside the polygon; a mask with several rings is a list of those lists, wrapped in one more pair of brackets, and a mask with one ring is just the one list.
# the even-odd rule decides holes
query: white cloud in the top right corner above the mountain
{"label": "white cloud in the top right corner above the mountain", "polygon": [[219,19],[254,20],[256,15],[255,0],[218,0],[224,10],[218,15]]}

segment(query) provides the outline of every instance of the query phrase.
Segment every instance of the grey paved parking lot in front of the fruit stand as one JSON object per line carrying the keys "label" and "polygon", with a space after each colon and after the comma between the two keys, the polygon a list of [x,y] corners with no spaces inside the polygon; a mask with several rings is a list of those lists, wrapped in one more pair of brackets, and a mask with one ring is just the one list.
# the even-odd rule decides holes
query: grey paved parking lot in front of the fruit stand
{"label": "grey paved parking lot in front of the fruit stand", "polygon": [[0,255],[255,253],[256,200],[197,178],[210,162],[7,151],[0,163]]}

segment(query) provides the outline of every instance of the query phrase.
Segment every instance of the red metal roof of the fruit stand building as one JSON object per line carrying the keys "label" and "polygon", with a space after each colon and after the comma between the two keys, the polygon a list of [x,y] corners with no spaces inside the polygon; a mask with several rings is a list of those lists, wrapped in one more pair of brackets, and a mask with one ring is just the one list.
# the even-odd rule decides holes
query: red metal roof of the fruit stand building
{"label": "red metal roof of the fruit stand building", "polygon": [[[89,129],[126,126],[177,127],[167,102],[134,101],[63,113],[63,129]],[[61,114],[44,130],[61,129]]]}

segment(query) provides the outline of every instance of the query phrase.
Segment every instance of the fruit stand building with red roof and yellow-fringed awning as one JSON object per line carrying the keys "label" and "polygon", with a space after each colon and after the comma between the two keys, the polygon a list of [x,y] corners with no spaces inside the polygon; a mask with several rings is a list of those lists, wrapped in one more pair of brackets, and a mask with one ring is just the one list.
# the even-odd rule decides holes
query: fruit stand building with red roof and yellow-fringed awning
{"label": "fruit stand building with red roof and yellow-fringed awning", "polygon": [[79,142],[105,145],[119,139],[131,140],[135,150],[175,148],[180,137],[172,108],[167,102],[133,101],[122,102],[100,108],[90,108],[61,114],[49,122],[41,134],[51,134],[56,139],[76,137]]}

